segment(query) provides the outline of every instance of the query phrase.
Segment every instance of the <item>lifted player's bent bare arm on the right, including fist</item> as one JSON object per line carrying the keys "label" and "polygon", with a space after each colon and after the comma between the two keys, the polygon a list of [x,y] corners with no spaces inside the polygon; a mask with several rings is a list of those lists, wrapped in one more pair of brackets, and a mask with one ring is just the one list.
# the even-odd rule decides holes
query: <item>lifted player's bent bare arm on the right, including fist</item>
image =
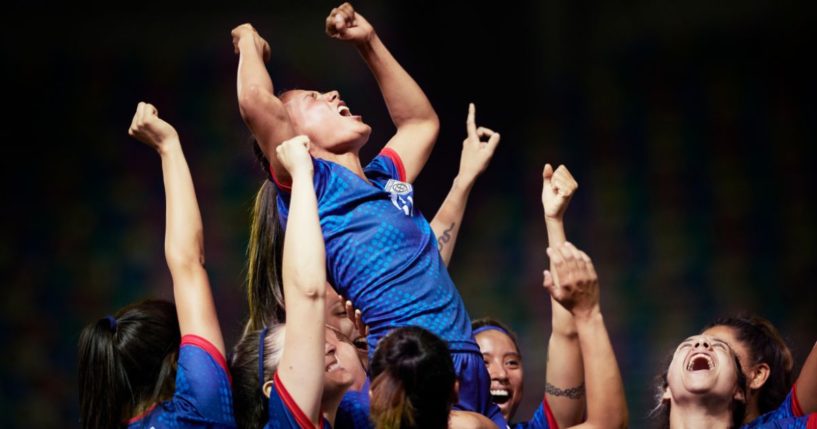
{"label": "lifted player's bent bare arm on the right, including fist", "polygon": [[431,102],[351,4],[332,9],[326,18],[326,33],[353,43],[372,71],[397,127],[386,147],[400,155],[406,180],[413,182],[428,160],[440,129]]}

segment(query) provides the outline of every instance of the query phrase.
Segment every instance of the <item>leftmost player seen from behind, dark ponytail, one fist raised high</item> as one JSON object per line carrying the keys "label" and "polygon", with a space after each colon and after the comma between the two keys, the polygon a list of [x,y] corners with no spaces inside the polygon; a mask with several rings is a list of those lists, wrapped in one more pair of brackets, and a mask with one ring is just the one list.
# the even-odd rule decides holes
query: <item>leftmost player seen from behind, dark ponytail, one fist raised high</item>
{"label": "leftmost player seen from behind, dark ponytail, one fist raised high", "polygon": [[165,257],[176,305],[148,300],[86,326],[79,341],[83,428],[234,428],[230,375],[204,269],[201,215],[176,130],[139,103],[128,133],[162,160]]}

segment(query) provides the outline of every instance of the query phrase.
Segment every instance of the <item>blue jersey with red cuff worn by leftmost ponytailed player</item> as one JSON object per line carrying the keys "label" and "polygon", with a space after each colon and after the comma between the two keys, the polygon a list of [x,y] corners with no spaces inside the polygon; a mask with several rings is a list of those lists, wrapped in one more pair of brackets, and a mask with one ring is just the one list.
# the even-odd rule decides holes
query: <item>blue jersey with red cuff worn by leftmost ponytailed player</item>
{"label": "blue jersey with red cuff worn by leftmost ponytailed player", "polygon": [[173,398],[134,417],[128,428],[235,428],[230,384],[221,352],[202,337],[185,335],[179,346]]}

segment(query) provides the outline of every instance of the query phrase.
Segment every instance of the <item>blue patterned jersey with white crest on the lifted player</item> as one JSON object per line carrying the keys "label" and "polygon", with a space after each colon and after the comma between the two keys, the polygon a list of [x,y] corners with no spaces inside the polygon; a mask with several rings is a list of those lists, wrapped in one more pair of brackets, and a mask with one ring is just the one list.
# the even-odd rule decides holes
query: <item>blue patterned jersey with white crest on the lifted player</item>
{"label": "blue patterned jersey with white crest on the lifted player", "polygon": [[[402,326],[423,327],[449,343],[473,343],[465,305],[431,226],[414,208],[397,153],[384,149],[364,169],[366,180],[334,162],[313,164],[329,281],[362,312],[369,357],[383,335]],[[286,227],[289,188],[277,186]]]}

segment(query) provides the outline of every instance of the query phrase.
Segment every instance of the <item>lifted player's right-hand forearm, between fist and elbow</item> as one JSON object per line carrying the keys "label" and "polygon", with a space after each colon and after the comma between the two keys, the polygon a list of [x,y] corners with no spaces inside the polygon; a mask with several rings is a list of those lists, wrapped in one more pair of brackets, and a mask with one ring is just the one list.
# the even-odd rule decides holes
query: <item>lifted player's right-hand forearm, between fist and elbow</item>
{"label": "lifted player's right-hand forearm, between fist and elbow", "polygon": [[423,90],[377,36],[358,45],[358,51],[372,71],[392,122],[398,130],[408,124],[427,122],[439,126],[437,114]]}

